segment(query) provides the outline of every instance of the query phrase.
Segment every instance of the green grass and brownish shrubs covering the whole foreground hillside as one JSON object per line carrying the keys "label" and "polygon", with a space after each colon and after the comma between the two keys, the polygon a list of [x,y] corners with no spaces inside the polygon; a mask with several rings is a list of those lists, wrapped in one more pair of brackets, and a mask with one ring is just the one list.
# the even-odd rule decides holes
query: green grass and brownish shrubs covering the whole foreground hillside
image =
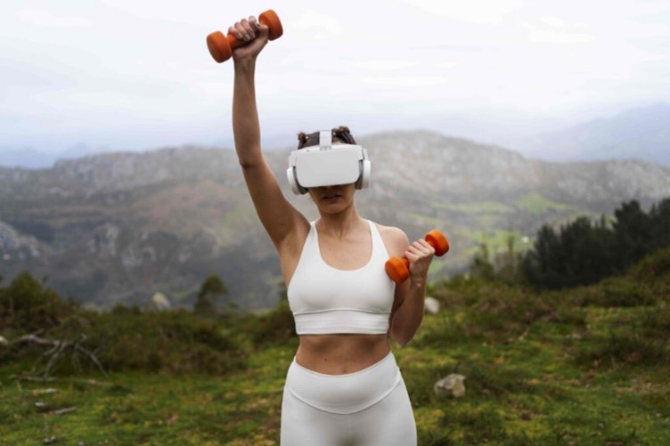
{"label": "green grass and brownish shrubs covering the whole foreground hillside", "polygon": [[[666,207],[644,214],[626,204],[614,223],[571,231],[606,239],[625,224],[653,228]],[[618,233],[626,255],[645,246],[631,231],[628,241]],[[670,247],[647,245],[653,252],[625,272],[590,285],[543,289],[527,285],[510,243],[493,258],[483,247],[470,275],[431,284],[442,311],[426,316],[410,345],[393,346],[420,444],[669,444]],[[225,284],[208,278],[200,290],[214,302]],[[45,373],[51,346],[14,342],[29,334],[77,340],[70,345],[104,372],[73,348]],[[0,288],[0,336],[4,442],[278,442],[297,346],[285,296],[263,313],[100,313],[24,273]],[[450,373],[466,377],[464,397],[434,393]]]}

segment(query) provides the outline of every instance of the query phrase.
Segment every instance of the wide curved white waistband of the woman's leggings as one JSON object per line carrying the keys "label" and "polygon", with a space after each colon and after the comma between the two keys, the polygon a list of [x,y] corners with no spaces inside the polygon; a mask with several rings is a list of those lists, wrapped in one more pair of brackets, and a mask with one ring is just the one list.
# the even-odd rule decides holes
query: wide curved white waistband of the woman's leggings
{"label": "wide curved white waistband of the woman's leggings", "polygon": [[286,388],[316,409],[351,414],[383,400],[401,380],[396,358],[393,353],[388,353],[367,369],[347,375],[324,375],[305,369],[293,360],[286,377]]}

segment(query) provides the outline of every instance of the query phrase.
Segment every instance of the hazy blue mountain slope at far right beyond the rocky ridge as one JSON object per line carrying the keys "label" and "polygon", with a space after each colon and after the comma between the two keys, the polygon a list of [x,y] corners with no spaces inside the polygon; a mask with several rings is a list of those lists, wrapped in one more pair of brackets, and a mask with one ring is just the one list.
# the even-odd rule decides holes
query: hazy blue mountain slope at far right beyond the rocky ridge
{"label": "hazy blue mountain slope at far right beyond the rocky ridge", "polygon": [[592,161],[636,158],[670,166],[670,104],[630,109],[514,142],[538,158]]}

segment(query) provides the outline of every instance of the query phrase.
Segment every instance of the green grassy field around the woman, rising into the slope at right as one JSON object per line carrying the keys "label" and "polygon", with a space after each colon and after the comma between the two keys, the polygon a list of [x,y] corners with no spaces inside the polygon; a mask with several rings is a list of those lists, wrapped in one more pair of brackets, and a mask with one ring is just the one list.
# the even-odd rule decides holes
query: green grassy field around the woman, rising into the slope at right
{"label": "green grassy field around the woman, rising into the slope at right", "polygon": [[[668,259],[567,292],[434,288],[443,311],[394,346],[420,444],[670,444]],[[220,374],[89,369],[29,382],[18,376],[31,361],[4,364],[0,443],[277,444],[297,341],[264,318],[263,337],[242,331],[258,330],[249,319],[221,325],[249,354]],[[462,398],[433,392],[450,373],[466,377]]]}

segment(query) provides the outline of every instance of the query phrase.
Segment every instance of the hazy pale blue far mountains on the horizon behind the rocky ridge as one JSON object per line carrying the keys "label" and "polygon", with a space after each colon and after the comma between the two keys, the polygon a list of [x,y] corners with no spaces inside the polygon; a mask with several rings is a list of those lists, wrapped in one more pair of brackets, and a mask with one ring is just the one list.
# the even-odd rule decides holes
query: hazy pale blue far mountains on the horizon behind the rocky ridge
{"label": "hazy pale blue far mountains on the horizon behind the rocky ridge", "polygon": [[[478,142],[497,143],[545,161],[594,161],[641,159],[670,166],[670,103],[659,102],[636,109],[613,111],[577,124],[565,126],[567,118],[541,117],[538,114],[489,110],[461,110],[449,115],[425,118],[427,128],[442,134],[459,135]],[[539,130],[543,128],[545,130]],[[552,129],[552,130],[546,130]],[[266,142],[288,141],[293,136],[266,134]],[[232,144],[231,135],[214,147]],[[202,144],[200,144],[202,145]],[[207,144],[211,147],[211,143]],[[82,158],[111,151],[105,146],[86,143],[61,152],[34,147],[12,147],[0,141],[0,166],[41,169],[60,159]]]}

